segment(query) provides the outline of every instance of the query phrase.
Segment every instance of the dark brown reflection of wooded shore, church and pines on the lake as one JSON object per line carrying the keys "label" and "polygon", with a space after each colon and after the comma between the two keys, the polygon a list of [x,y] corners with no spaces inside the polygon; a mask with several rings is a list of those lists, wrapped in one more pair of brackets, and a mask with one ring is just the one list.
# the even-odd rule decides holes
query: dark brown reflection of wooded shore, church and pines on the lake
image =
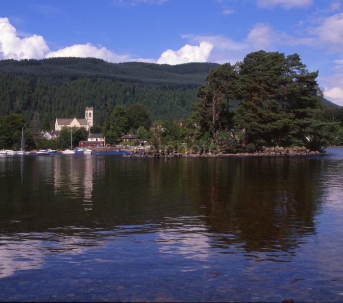
{"label": "dark brown reflection of wooded shore, church and pines on the lake", "polygon": [[[247,252],[289,252],[316,232],[324,169],[319,160],[309,165],[305,158],[164,163],[36,157],[24,163],[25,186],[12,182],[16,168],[6,167],[14,175],[1,178],[0,190],[10,184],[11,193],[22,195],[2,197],[1,224],[21,232],[23,224],[6,224],[21,220],[26,231],[43,232],[63,226],[112,230],[121,224],[157,223],[158,228],[142,228],[149,233],[174,227],[192,233],[201,225],[214,237],[210,242],[215,247],[239,244]],[[185,216],[193,217],[189,224]]]}

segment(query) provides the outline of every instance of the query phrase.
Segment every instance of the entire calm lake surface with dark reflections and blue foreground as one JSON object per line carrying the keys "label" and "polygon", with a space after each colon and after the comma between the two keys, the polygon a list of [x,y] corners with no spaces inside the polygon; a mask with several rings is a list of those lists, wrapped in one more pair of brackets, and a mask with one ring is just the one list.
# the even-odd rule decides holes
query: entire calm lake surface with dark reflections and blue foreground
{"label": "entire calm lake surface with dark reflections and blue foreground", "polygon": [[343,149],[0,158],[0,301],[343,302]]}

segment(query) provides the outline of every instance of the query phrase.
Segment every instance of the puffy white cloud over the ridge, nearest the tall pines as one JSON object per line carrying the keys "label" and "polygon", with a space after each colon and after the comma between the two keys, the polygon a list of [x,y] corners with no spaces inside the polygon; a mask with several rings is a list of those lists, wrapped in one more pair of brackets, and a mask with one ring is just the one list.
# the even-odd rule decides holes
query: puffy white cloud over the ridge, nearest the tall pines
{"label": "puffy white cloud over the ridge, nearest the tall pines", "polygon": [[206,62],[213,49],[213,44],[201,42],[199,46],[186,44],[178,50],[167,49],[157,60],[158,64],[183,64]]}

